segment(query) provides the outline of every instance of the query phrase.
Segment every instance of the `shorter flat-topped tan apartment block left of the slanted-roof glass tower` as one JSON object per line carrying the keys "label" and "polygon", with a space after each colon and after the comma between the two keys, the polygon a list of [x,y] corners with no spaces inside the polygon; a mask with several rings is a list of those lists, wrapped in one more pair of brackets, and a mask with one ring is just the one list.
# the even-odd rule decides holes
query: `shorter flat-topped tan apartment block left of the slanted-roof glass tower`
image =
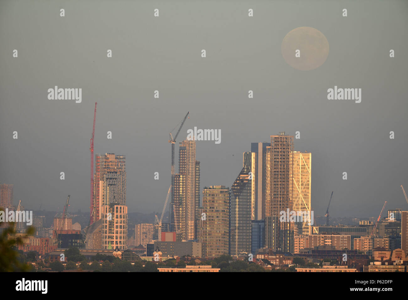
{"label": "shorter flat-topped tan apartment block left of the slanted-roof glass tower", "polygon": [[224,185],[204,187],[202,242],[206,257],[229,253],[230,190]]}

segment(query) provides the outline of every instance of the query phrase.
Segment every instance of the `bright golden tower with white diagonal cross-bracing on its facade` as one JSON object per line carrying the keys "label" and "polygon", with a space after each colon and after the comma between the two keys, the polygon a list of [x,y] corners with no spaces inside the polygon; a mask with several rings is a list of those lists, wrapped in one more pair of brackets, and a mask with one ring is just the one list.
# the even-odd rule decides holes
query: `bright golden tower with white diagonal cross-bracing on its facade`
{"label": "bright golden tower with white diagonal cross-bracing on its facade", "polygon": [[[312,153],[310,152],[293,152],[293,185],[292,185],[292,209],[296,212],[303,212],[306,216],[310,215],[310,191],[311,191],[311,165]],[[299,224],[302,227],[301,234],[312,234],[311,222],[305,220]]]}

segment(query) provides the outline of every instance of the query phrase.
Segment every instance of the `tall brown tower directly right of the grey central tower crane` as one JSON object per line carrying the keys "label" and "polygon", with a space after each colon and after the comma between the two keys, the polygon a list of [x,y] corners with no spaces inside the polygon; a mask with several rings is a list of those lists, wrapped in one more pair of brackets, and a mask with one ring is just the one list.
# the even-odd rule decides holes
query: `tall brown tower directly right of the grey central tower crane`
{"label": "tall brown tower directly right of the grey central tower crane", "polygon": [[[197,210],[200,207],[200,162],[195,160],[195,140],[180,142],[179,173],[174,176],[174,203],[170,211],[172,223],[183,240],[194,240],[197,227]],[[198,191],[197,191],[198,189]],[[174,216],[173,216],[174,215]]]}

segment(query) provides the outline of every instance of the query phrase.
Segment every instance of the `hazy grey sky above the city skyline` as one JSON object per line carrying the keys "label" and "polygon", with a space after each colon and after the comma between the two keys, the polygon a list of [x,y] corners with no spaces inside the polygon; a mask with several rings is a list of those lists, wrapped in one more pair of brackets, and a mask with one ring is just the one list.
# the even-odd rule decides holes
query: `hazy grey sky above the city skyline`
{"label": "hazy grey sky above the city skyline", "polygon": [[[28,209],[55,210],[71,194],[70,209],[88,211],[97,101],[95,153],[126,156],[130,212],[162,210],[169,131],[187,111],[176,171],[187,129],[221,130],[220,144],[197,141],[201,187],[231,187],[251,142],[300,131],[295,150],[312,153],[315,216],[331,191],[333,217],[377,217],[384,201],[408,210],[399,187],[408,189],[407,16],[404,0],[1,1],[0,181]],[[330,46],[311,71],[281,53],[286,34],[303,26]],[[82,88],[82,103],[49,100],[55,85]],[[335,85],[361,88],[361,103],[328,100]]]}

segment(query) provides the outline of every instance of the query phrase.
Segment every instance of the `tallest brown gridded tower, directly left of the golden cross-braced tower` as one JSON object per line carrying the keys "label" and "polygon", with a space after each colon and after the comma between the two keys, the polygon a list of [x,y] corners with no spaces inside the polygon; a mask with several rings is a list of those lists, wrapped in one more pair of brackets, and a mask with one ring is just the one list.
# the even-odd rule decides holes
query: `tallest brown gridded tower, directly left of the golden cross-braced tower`
{"label": "tallest brown gridded tower, directly left of the golden cross-braced tower", "polygon": [[293,136],[271,136],[265,158],[265,246],[293,253],[293,222],[279,221],[280,212],[292,210]]}

